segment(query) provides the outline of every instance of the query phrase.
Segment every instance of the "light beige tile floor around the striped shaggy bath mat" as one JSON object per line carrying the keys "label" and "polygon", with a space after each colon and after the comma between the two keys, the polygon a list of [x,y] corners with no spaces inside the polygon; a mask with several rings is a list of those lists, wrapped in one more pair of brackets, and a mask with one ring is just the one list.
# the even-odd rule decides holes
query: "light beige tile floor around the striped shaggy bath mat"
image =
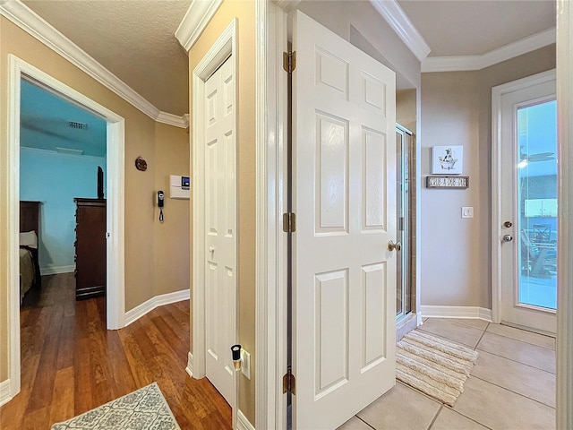
{"label": "light beige tile floor around the striped shaggy bath mat", "polygon": [[555,428],[555,340],[482,320],[426,319],[418,330],[479,351],[453,408],[397,383],[339,430]]}

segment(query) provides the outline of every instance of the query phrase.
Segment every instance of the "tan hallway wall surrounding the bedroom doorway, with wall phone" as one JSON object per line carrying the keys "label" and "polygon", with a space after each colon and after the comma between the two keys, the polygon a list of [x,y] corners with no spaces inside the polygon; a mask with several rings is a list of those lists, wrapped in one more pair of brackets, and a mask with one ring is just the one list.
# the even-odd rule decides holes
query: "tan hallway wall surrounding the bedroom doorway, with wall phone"
{"label": "tan hallway wall surrounding the bedroom doorway, with wall phone", "polygon": [[[187,134],[184,129],[157,125],[124,99],[81,72],[37,39],[0,16],[0,382],[7,379],[8,333],[6,315],[7,215],[9,213],[6,183],[7,145],[7,57],[13,54],[38,67],[74,90],[80,91],[100,105],[125,118],[125,310],[158,294],[189,288],[189,244],[178,241],[180,230],[168,217],[183,219],[188,232],[188,208],[167,201],[166,223],[159,227],[154,211],[154,191],[164,186],[172,166],[185,173],[188,169]],[[147,160],[148,170],[135,169],[133,161],[140,156]],[[173,209],[171,209],[173,207]],[[156,230],[158,230],[156,232]],[[15,252],[15,250],[13,251]],[[164,267],[165,261],[156,255],[182,254],[187,262]],[[182,260],[184,258],[182,257]],[[154,263],[155,262],[155,263]],[[166,269],[175,271],[167,279],[174,285],[157,282]]]}

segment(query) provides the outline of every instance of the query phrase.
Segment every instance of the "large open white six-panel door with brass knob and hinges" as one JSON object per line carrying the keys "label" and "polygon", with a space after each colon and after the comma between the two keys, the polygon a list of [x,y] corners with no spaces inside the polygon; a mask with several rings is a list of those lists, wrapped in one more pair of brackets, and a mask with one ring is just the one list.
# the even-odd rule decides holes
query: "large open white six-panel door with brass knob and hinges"
{"label": "large open white six-panel door with brass knob and hinges", "polygon": [[332,429],[395,384],[396,76],[293,18],[293,419]]}

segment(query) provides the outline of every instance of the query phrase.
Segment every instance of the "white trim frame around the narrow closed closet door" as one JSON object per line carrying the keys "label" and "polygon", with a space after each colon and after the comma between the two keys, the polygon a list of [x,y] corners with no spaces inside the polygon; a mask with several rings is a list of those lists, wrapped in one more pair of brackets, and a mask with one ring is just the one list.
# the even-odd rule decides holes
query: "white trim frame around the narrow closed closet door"
{"label": "white trim frame around the narrow closed closet door", "polygon": [[[193,378],[205,377],[205,81],[229,56],[237,82],[238,56],[236,55],[236,18],[227,26],[210,50],[203,56],[192,73],[192,350],[189,353],[187,373]],[[237,106],[235,91],[235,107]],[[238,124],[235,108],[235,126]],[[238,136],[235,140],[238,148]],[[238,152],[237,152],[238,154]],[[237,199],[238,202],[238,199]],[[238,222],[236,223],[238,226]],[[240,238],[237,236],[237,246]],[[236,255],[236,253],[235,253]],[[236,262],[235,262],[236,267]],[[238,275],[238,271],[236,271]],[[238,278],[235,276],[235,280]],[[235,287],[238,284],[235,283]],[[236,295],[238,304],[238,294]],[[235,304],[235,305],[236,305]],[[238,306],[237,306],[238,307]],[[238,315],[238,312],[235,312]],[[238,329],[235,317],[235,330]],[[235,333],[238,339],[238,331]],[[231,354],[231,345],[228,353]],[[235,405],[231,405],[235,414]]]}

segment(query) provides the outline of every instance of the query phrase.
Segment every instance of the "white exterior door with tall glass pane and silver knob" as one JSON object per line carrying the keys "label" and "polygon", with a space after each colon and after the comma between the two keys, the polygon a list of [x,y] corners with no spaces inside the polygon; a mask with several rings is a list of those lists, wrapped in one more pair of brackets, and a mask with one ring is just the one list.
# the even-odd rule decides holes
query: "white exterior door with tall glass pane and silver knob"
{"label": "white exterior door with tall glass pane and silver knob", "polygon": [[543,73],[504,88],[500,95],[500,220],[494,227],[500,247],[500,320],[555,333],[555,74]]}

